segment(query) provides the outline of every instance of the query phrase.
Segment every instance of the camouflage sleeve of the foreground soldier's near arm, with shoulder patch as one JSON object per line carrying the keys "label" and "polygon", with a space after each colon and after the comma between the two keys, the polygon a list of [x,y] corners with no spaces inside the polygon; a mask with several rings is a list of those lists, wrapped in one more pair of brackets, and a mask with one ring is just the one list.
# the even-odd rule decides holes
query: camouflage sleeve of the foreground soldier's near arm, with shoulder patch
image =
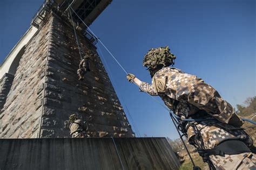
{"label": "camouflage sleeve of the foreground soldier's near arm, with shoulder patch", "polygon": [[[163,73],[160,70],[155,75],[158,93],[160,92],[158,89],[166,88],[167,91],[164,90],[164,93],[174,100],[192,104],[201,110],[205,110],[221,122],[228,123],[230,121],[230,118],[234,115],[234,109],[230,103],[221,98],[217,90],[197,76],[182,73],[178,69],[168,67],[162,70]],[[163,75],[165,77],[167,75],[167,80],[164,83],[165,87],[158,88],[158,82],[163,82]]]}

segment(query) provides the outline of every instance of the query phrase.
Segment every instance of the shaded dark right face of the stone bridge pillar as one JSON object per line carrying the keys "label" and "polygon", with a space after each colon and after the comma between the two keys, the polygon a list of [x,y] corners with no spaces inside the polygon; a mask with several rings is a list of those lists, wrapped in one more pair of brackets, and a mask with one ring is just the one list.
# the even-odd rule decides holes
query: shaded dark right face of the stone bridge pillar
{"label": "shaded dark right face of the stone bridge pillar", "polygon": [[53,16],[41,136],[69,137],[66,121],[76,113],[87,122],[92,137],[132,137],[95,46],[77,33],[82,53],[90,50],[95,54],[83,81],[77,76],[80,56],[73,28],[63,18]]}

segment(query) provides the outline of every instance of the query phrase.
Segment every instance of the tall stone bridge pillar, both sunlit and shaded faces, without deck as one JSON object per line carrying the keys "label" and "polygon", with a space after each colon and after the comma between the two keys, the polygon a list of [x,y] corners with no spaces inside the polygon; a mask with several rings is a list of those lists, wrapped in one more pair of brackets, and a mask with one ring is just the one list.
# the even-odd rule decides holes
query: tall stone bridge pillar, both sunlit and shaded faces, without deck
{"label": "tall stone bridge pillar, both sunlit and shaded faces, without deck", "polygon": [[72,113],[87,122],[91,137],[133,137],[96,47],[77,33],[82,53],[94,53],[91,71],[78,81],[75,34],[65,18],[52,13],[25,48],[3,107],[0,137],[71,137]]}

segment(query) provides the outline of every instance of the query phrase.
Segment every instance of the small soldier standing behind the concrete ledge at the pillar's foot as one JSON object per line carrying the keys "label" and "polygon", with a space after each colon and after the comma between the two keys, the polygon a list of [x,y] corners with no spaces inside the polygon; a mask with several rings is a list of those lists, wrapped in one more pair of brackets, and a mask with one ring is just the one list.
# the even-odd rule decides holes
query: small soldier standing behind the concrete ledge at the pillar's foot
{"label": "small soldier standing behind the concrete ledge at the pillar's foot", "polygon": [[86,130],[86,125],[85,123],[81,120],[78,119],[76,114],[72,114],[69,116],[69,129],[70,129],[70,134],[72,138],[87,138],[89,137],[85,130]]}

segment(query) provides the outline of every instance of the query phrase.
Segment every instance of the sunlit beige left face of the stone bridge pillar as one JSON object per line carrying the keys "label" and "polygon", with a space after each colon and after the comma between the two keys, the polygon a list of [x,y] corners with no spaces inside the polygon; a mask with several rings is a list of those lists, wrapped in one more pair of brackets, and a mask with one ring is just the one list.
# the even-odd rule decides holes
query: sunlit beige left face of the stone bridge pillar
{"label": "sunlit beige left face of the stone bridge pillar", "polygon": [[1,114],[0,138],[38,137],[51,18],[24,49]]}

